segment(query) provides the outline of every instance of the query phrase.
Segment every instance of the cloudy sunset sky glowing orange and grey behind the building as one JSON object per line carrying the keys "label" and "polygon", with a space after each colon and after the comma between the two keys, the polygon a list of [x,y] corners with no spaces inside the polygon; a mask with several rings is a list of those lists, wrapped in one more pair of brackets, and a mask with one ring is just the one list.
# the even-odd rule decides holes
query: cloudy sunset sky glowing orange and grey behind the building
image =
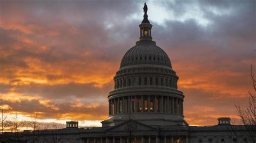
{"label": "cloudy sunset sky glowing orange and grey behind the building", "polygon": [[[238,120],[256,71],[256,1],[0,0],[0,103],[26,120],[101,126],[123,55],[147,3],[153,40],[169,55],[190,125]],[[254,72],[255,73],[255,72]]]}

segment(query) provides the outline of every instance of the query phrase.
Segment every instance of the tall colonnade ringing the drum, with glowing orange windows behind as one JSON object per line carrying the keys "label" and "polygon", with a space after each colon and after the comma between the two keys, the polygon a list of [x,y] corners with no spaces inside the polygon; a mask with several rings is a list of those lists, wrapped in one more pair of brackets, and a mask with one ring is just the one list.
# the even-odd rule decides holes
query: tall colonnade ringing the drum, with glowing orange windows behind
{"label": "tall colonnade ringing the drum, with glowing orange windows behind", "polygon": [[[138,98],[138,102],[132,102]],[[132,112],[165,112],[183,115],[183,99],[169,96],[124,96],[109,100],[109,115]]]}

